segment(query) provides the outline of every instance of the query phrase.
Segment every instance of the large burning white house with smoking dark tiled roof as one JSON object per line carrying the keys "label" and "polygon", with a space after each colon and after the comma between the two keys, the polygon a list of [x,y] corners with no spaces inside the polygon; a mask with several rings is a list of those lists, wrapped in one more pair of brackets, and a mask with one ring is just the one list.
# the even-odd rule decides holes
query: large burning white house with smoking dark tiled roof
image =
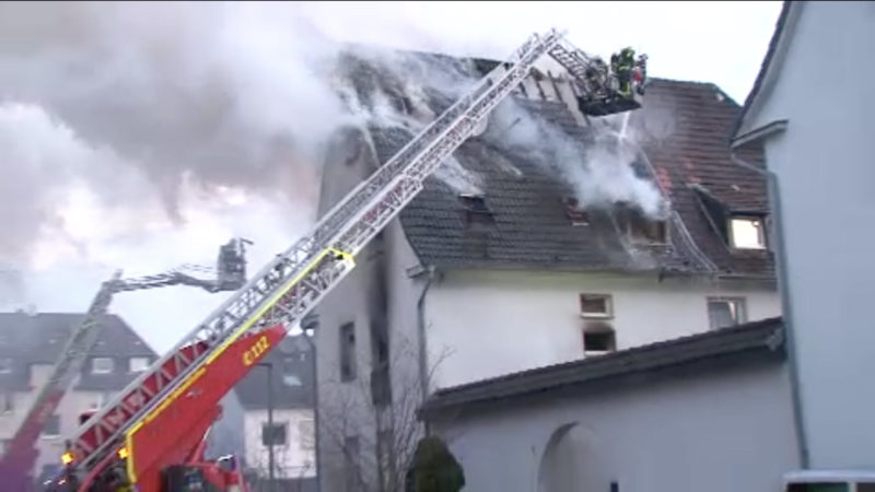
{"label": "large burning white house with smoking dark tiled roof", "polygon": [[[320,213],[411,137],[405,118],[451,103],[410,90],[417,73],[494,66],[399,57],[347,60],[351,105],[402,116],[338,133]],[[564,75],[534,72],[318,306],[323,491],[397,490],[435,390],[780,315],[765,179],[726,148],[738,112],[713,84],[653,80],[628,119],[591,119]],[[596,178],[569,174],[598,159],[615,166],[602,179],[653,186],[669,213],[622,194],[581,209]]]}

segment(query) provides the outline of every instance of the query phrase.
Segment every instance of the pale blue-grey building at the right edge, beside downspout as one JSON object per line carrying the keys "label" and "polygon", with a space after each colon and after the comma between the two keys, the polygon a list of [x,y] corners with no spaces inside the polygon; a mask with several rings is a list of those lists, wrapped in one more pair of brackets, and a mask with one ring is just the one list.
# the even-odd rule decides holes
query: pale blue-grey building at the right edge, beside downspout
{"label": "pale blue-grey building at the right edge, beside downspout", "polygon": [[785,2],[733,132],[766,151],[805,468],[875,469],[874,50],[875,3]]}

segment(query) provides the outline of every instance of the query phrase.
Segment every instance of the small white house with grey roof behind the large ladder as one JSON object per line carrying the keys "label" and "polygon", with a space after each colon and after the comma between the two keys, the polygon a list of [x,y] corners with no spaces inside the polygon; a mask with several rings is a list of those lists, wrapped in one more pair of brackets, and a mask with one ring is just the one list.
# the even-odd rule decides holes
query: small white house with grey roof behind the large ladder
{"label": "small white house with grey roof behind the large ladder", "polygon": [[[234,387],[243,407],[243,456],[250,485],[269,490],[268,444],[281,490],[310,490],[316,477],[313,351],[305,336],[287,337]],[[270,364],[270,370],[261,364]],[[271,385],[268,386],[268,372]],[[272,407],[272,429],[268,409]],[[238,427],[240,429],[240,427]]]}

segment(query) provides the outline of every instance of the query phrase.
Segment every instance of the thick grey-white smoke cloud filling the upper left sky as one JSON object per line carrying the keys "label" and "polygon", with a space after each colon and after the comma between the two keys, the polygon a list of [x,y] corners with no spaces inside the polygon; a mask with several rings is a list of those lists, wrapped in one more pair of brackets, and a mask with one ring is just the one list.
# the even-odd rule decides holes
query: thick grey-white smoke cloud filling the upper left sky
{"label": "thick grey-white smoke cloud filling the upper left sky", "polygon": [[[21,261],[81,185],[103,207],[184,181],[282,189],[306,209],[320,145],[343,117],[314,77],[334,45],[293,7],[199,2],[0,3],[0,257]],[[186,178],[187,176],[187,178]],[[300,200],[300,197],[304,200]],[[50,231],[49,231],[50,230]]]}

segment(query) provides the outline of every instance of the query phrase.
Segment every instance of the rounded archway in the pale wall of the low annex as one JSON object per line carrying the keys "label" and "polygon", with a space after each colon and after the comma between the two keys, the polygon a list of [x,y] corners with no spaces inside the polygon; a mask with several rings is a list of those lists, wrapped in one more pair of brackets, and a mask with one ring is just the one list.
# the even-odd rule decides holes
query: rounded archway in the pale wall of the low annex
{"label": "rounded archway in the pale wall of the low annex", "polygon": [[606,492],[612,469],[595,432],[578,422],[557,427],[538,466],[538,492]]}

